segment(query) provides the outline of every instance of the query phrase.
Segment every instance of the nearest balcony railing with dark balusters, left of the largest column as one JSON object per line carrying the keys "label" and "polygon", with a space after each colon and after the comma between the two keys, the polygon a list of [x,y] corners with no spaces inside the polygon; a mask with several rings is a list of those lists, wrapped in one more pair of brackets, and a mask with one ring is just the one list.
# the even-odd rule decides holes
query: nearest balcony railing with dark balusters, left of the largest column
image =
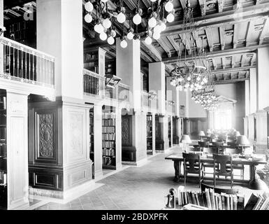
{"label": "nearest balcony railing with dark balusters, left of the largest column", "polygon": [[[20,82],[39,88],[42,86],[54,89],[55,59],[51,55],[1,36],[0,57],[1,81],[8,80],[11,83]],[[36,92],[41,93],[40,91],[31,93]]]}

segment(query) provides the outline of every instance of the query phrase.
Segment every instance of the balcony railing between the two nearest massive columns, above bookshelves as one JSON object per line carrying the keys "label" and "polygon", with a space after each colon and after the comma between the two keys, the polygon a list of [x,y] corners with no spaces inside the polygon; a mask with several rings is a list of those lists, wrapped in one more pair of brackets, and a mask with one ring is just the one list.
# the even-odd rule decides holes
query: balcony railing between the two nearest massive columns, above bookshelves
{"label": "balcony railing between the two nearest massive columns, above bookshelves", "polygon": [[119,83],[116,87],[106,86],[106,77],[83,69],[84,94],[99,99],[115,99],[119,102],[130,102],[129,86]]}

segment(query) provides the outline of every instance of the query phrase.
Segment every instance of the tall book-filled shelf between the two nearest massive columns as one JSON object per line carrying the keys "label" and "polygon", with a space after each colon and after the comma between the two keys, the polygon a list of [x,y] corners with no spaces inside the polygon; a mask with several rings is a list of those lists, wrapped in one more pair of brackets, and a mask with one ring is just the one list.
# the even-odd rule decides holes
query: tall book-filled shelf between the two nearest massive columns
{"label": "tall book-filled shelf between the two nearest massive columns", "polygon": [[103,110],[102,115],[103,169],[116,169],[116,114]]}

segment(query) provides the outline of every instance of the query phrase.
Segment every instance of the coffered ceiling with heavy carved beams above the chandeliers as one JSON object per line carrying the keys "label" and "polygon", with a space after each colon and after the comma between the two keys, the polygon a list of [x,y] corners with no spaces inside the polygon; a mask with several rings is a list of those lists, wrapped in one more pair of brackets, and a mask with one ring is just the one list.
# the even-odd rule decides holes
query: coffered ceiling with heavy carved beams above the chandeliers
{"label": "coffered ceiling with heavy carved beams above the chandeliers", "polygon": [[[150,0],[141,1],[144,8],[150,6]],[[136,7],[136,2],[124,0],[130,10]],[[179,52],[179,41],[184,35],[193,35],[196,48],[201,48],[202,45],[205,48],[206,58],[216,83],[231,83],[249,78],[249,69],[256,66],[256,49],[269,45],[269,0],[190,2],[194,8],[196,33],[184,33],[182,19],[186,1],[174,0],[175,21],[167,24],[161,38],[154,40],[152,45],[146,45],[141,41],[143,61],[163,61],[168,75],[178,63],[178,54],[184,57],[185,49],[187,59],[191,61],[189,43],[183,43],[182,52]],[[112,1],[110,3],[113,5]],[[128,27],[128,22],[126,25]],[[202,35],[205,36],[203,43],[199,38]],[[109,46],[94,36],[87,38],[85,45],[89,50],[101,45],[108,52],[115,54],[115,46]]]}

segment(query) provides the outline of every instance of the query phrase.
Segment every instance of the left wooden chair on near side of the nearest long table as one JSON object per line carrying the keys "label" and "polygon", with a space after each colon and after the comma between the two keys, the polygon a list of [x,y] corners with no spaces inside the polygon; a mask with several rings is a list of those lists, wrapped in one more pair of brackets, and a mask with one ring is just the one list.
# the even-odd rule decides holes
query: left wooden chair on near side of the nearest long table
{"label": "left wooden chair on near side of the nearest long table", "polygon": [[200,188],[201,181],[203,181],[203,165],[201,164],[200,155],[194,153],[182,153],[182,155],[184,160],[184,186],[186,186],[188,174],[198,174]]}

